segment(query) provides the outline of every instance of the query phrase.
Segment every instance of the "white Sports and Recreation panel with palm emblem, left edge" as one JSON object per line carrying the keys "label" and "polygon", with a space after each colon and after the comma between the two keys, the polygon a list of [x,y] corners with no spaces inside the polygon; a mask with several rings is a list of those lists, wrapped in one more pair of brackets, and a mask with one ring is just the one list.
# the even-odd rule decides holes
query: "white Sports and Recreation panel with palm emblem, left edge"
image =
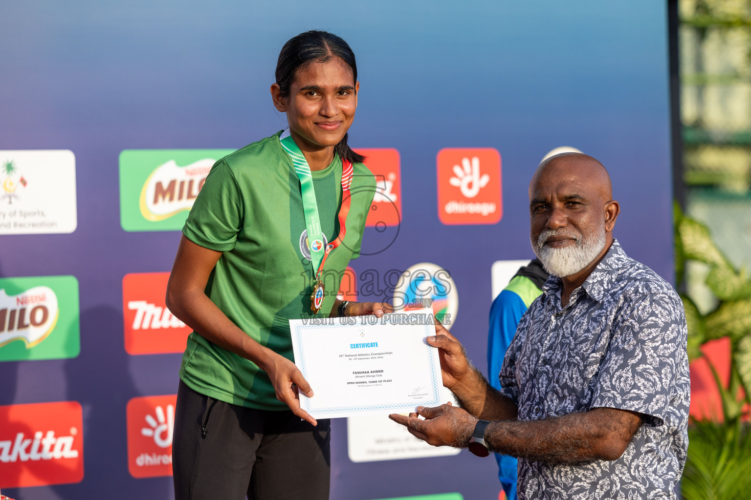
{"label": "white Sports and Recreation panel with palm emblem, left edge", "polygon": [[68,233],[77,224],[73,151],[0,150],[0,235]]}

